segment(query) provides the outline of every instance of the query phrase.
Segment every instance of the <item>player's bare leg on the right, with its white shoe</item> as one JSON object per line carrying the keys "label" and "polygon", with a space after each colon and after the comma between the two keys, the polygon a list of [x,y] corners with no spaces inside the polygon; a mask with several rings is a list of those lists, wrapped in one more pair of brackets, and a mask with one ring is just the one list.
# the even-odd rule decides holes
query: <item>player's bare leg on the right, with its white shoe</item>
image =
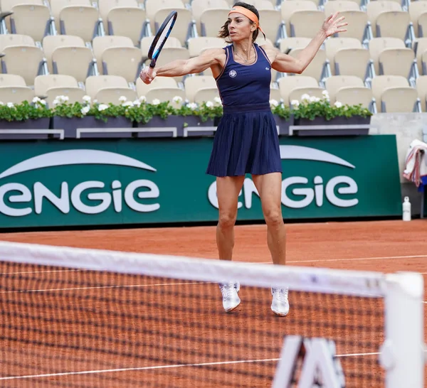
{"label": "player's bare leg on the right, with its white shoe", "polygon": [[[267,242],[274,264],[285,265],[286,230],[282,215],[282,174],[268,173],[253,176],[253,183],[260,195],[265,223]],[[271,288],[273,301],[271,309],[278,316],[289,313],[288,288]]]}

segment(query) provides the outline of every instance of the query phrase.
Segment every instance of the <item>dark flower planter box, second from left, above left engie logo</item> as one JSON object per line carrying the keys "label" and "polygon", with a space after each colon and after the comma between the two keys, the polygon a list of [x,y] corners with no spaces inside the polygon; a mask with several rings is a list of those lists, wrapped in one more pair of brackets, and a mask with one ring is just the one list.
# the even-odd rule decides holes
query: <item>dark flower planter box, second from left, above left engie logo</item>
{"label": "dark flower planter box, second from left, above left engie logo", "polygon": [[85,117],[52,118],[53,129],[64,129],[65,138],[130,138],[132,137],[132,121],[126,117],[109,117],[107,122]]}

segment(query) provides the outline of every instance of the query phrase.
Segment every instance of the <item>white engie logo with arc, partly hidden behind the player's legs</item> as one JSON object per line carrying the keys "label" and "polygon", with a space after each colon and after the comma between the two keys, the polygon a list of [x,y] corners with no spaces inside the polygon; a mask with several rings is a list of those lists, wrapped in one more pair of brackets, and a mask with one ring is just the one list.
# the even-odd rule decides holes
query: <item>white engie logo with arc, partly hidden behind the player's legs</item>
{"label": "white engie logo with arc, partly hidden behind the player's legs", "polygon": [[[304,146],[280,146],[280,158],[286,160],[321,161],[344,166],[349,169],[355,168],[351,163],[344,161],[344,159],[332,153]],[[325,203],[325,198],[338,208],[349,208],[359,203],[359,200],[355,198],[358,187],[353,178],[346,175],[339,175],[325,180],[325,178],[322,178],[321,168],[322,166],[319,166],[318,169],[313,168],[314,171],[319,172],[310,181],[305,176],[297,175],[285,178],[282,181],[282,204],[288,208],[300,209],[306,208],[315,201],[316,205],[321,207]],[[297,171],[292,172],[297,173]],[[290,170],[286,170],[284,173],[288,174]],[[337,188],[337,186],[339,187]],[[293,199],[289,198],[288,192],[292,193]],[[239,195],[241,194],[242,192]],[[243,182],[243,200],[244,206],[247,209],[252,207],[253,194],[259,196],[253,180],[246,178]],[[209,186],[208,197],[211,205],[218,208],[216,182]],[[242,206],[243,203],[239,201],[238,208]]]}

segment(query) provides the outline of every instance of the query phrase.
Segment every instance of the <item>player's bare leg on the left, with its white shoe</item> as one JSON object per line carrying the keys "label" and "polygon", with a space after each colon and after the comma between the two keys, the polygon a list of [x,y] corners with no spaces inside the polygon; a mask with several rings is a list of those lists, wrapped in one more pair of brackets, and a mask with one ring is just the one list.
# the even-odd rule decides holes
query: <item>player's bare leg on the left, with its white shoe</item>
{"label": "player's bare leg on the left, with its white shoe", "polygon": [[[221,260],[233,259],[234,224],[237,217],[238,194],[241,191],[244,176],[225,176],[216,178],[216,196],[218,198],[218,225],[216,227],[216,245]],[[220,283],[223,296],[223,308],[229,313],[241,303],[238,297],[239,284]]]}

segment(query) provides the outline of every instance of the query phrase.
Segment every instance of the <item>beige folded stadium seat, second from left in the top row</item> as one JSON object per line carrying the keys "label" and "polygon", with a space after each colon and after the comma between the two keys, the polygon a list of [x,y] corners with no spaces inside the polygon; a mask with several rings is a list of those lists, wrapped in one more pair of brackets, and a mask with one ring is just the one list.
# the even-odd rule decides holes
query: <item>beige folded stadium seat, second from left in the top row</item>
{"label": "beige folded stadium seat, second from left in the top row", "polygon": [[97,35],[99,22],[99,12],[93,6],[66,6],[59,14],[60,33],[80,36],[85,42]]}

